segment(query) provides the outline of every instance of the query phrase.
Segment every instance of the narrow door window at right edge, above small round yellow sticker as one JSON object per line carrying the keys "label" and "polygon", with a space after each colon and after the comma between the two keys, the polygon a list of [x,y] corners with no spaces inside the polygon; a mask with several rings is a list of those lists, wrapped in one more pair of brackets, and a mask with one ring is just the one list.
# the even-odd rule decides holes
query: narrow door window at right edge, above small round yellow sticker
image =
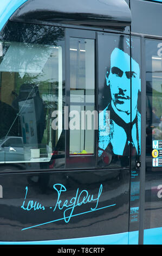
{"label": "narrow door window at right edge, above small round yellow sticker", "polygon": [[[155,167],[152,150],[158,148],[162,140],[162,56],[161,42],[146,41],[146,153],[150,158],[150,167]],[[158,145],[159,144],[159,145]],[[161,148],[161,146],[160,146]],[[148,164],[148,163],[147,163]],[[159,164],[158,164],[159,165]]]}

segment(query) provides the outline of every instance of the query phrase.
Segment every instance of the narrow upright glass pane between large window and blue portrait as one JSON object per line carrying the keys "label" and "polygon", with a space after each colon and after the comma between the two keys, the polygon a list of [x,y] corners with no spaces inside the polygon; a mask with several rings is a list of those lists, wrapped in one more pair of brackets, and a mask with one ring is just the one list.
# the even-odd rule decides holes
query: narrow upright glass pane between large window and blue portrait
{"label": "narrow upright glass pane between large window and blue portrait", "polygon": [[70,155],[94,154],[93,39],[70,38]]}

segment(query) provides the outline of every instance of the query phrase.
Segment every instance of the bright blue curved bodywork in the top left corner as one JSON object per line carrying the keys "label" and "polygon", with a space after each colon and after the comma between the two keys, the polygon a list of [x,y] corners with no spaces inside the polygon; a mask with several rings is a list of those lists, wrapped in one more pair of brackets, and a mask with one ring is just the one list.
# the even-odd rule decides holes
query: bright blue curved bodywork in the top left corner
{"label": "bright blue curved bodywork in the top left corner", "polygon": [[5,0],[0,5],[0,31],[5,23],[10,19],[11,15],[28,0]]}

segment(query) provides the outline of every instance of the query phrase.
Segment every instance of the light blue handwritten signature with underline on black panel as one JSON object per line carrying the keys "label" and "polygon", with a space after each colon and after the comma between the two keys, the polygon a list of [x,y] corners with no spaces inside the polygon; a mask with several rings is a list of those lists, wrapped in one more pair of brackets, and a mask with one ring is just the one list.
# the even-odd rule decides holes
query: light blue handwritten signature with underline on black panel
{"label": "light blue handwritten signature with underline on black panel", "polygon": [[[100,196],[102,193],[102,184],[100,185],[99,191],[96,196],[94,196],[94,194],[90,194],[87,190],[79,191],[79,188],[77,188],[75,196],[72,198],[66,199],[66,200],[61,200],[62,193],[67,191],[67,188],[64,185],[59,184],[59,183],[54,184],[53,188],[57,192],[57,202],[53,207],[50,206],[50,209],[53,209],[53,212],[55,212],[56,209],[63,211],[63,217],[60,219],[57,219],[57,220],[49,221],[49,222],[38,224],[38,225],[43,225],[43,224],[56,222],[56,221],[60,221],[60,220],[64,220],[66,223],[68,223],[70,221],[70,219],[74,216],[87,214],[88,212],[101,210],[103,208],[108,208],[110,206],[115,205],[115,204],[113,204],[113,205],[104,206],[102,208],[98,208],[99,199],[100,199]],[[26,190],[25,197],[24,197],[23,204],[21,206],[21,208],[23,210],[25,210],[25,211],[30,211],[30,210],[44,211],[44,210],[46,210],[45,206],[42,205],[40,202],[37,202],[37,201],[34,202],[33,200],[28,200],[28,202],[27,202],[28,187],[25,187],[25,190]],[[91,207],[89,209],[89,211],[81,212],[79,214],[73,214],[74,209],[76,207],[79,207],[83,204],[88,204],[91,202],[94,202],[95,206],[93,208]],[[34,225],[33,227],[37,227],[38,225]],[[33,228],[33,227],[29,227],[29,228]],[[24,228],[22,230],[29,229],[29,228]]]}

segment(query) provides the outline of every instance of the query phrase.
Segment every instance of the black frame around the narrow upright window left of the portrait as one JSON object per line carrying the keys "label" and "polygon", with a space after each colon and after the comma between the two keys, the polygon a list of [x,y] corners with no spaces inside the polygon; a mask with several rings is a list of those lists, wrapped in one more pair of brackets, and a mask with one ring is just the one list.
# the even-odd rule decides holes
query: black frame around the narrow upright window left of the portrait
{"label": "black frame around the narrow upright window left of the portrait", "polygon": [[[95,45],[95,85],[94,85],[94,110],[97,110],[97,79],[96,79],[96,32],[95,31],[89,31],[89,30],[83,30],[83,29],[73,29],[73,28],[66,28],[65,29],[65,41],[66,41],[66,46],[65,46],[65,55],[66,55],[66,102],[65,106],[68,107],[68,124],[69,124],[69,109],[70,109],[70,38],[85,38],[85,39],[93,39],[94,40],[94,45]],[[70,130],[65,130],[65,150],[66,150],[66,169],[69,168],[77,168],[77,169],[82,169],[82,168],[95,168],[95,158],[96,158],[96,147],[97,145],[95,144],[95,141],[98,138],[98,130],[94,130],[94,154],[93,155],[74,155],[70,156],[69,149],[70,149]]]}

